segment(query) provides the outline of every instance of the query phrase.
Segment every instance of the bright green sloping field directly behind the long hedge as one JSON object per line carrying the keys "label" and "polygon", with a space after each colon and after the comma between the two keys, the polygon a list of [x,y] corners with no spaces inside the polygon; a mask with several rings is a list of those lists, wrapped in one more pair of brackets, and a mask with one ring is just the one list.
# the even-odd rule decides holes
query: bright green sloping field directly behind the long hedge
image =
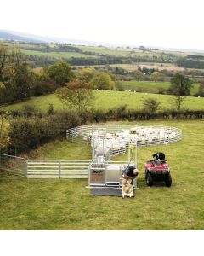
{"label": "bright green sloping field directly behind the long hedge", "polygon": [[[95,102],[94,108],[97,109],[110,109],[116,108],[127,104],[127,108],[130,109],[142,109],[143,101],[146,98],[156,98],[161,102],[161,109],[172,109],[174,96],[137,93],[129,91],[108,91],[108,90],[95,90]],[[20,102],[8,107],[2,107],[0,109],[20,109],[25,105],[32,105],[37,108],[41,108],[44,111],[48,110],[49,104],[54,104],[55,110],[63,110],[63,105],[59,99],[54,95],[33,97],[26,102]],[[202,110],[204,109],[204,98],[197,98],[188,96],[184,101],[184,109],[190,110]]]}

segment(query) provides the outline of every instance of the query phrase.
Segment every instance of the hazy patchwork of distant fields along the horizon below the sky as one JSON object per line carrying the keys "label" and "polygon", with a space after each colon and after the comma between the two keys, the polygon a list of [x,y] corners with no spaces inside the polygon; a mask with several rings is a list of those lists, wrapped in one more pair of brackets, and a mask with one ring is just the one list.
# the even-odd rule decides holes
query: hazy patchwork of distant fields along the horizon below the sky
{"label": "hazy patchwork of distant fields along the horizon below the sky", "polygon": [[[3,42],[2,44],[8,44],[11,47],[19,48],[21,52],[25,55],[33,55],[37,57],[48,57],[54,60],[65,58],[71,61],[71,58],[82,58],[86,61],[73,61],[72,64],[80,65],[81,67],[85,64],[86,66],[103,66],[101,64],[108,65],[108,63],[133,63],[133,61],[141,61],[133,64],[114,64],[112,67],[122,67],[128,71],[133,71],[139,67],[143,68],[155,68],[158,70],[169,70],[173,72],[184,71],[183,67],[176,67],[176,61],[181,56],[186,56],[190,54],[201,55],[190,52],[181,51],[169,51],[169,50],[159,50],[159,49],[133,49],[133,48],[122,48],[122,47],[105,47],[105,46],[84,46],[84,45],[70,45],[72,49],[63,48],[62,44],[22,44],[20,42]],[[64,45],[65,46],[65,45]],[[82,52],[77,52],[81,49]],[[76,52],[71,52],[70,50],[76,50]],[[85,54],[88,53],[88,54]],[[40,59],[40,58],[39,58]],[[96,60],[95,60],[96,59]],[[109,60],[108,60],[109,59]],[[113,60],[114,59],[114,60]],[[54,61],[53,60],[53,61]],[[30,60],[31,61],[31,60]],[[49,60],[50,61],[50,60]],[[149,61],[149,62],[145,62]],[[159,63],[158,63],[159,62]],[[166,63],[164,63],[166,62]],[[174,64],[173,64],[174,63]],[[44,66],[45,63],[42,59],[34,61],[35,67]],[[188,70],[197,70],[190,69]],[[199,70],[199,72],[203,70]],[[200,79],[199,73],[197,78]]]}

